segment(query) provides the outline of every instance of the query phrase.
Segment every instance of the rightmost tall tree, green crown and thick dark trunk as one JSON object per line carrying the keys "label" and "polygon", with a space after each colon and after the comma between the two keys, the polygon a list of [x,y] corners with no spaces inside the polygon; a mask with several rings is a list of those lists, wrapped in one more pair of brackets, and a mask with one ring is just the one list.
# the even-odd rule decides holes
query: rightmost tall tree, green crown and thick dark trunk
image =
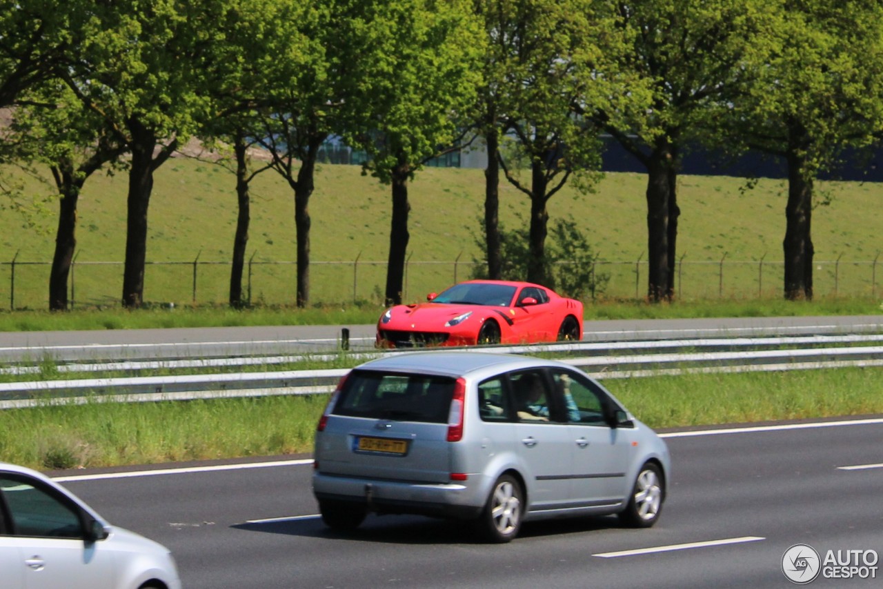
{"label": "rightmost tall tree, green crown and thick dark trunk", "polygon": [[721,105],[724,143],[776,155],[788,168],[784,297],[810,299],[814,181],[843,150],[883,131],[883,5],[785,0],[743,95]]}

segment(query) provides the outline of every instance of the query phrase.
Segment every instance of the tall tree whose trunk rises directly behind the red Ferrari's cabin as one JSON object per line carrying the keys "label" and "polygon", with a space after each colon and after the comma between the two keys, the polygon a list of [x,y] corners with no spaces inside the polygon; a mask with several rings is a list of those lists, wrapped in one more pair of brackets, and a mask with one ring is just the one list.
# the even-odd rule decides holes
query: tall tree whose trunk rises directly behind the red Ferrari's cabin
{"label": "tall tree whose trunk rises directly behind the red Ferrari's cabin", "polygon": [[[598,129],[582,116],[585,104],[608,103],[603,80],[604,37],[613,21],[592,0],[519,0],[501,32],[508,54],[501,94],[505,129],[515,136],[516,162],[500,158],[509,183],[530,199],[527,280],[546,283],[548,201],[574,174],[590,188],[600,169]],[[612,63],[608,65],[612,69]],[[527,163],[522,178],[517,162]]]}

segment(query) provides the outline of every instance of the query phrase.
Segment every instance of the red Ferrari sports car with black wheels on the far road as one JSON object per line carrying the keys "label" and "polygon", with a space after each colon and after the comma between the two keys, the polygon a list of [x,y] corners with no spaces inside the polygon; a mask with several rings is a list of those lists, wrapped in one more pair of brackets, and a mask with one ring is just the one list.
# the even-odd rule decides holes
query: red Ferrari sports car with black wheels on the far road
{"label": "red Ferrari sports car with black wheels on the far road", "polygon": [[539,284],[470,280],[426,300],[383,313],[377,347],[536,344],[583,337],[583,304]]}

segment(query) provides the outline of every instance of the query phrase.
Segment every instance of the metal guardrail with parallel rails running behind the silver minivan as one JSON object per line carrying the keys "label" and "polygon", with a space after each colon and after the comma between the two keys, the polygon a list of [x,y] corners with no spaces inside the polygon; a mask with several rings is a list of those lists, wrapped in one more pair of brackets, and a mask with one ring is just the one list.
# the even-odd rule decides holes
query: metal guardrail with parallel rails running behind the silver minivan
{"label": "metal guardrail with parallel rails running behind the silver minivan", "polygon": [[[596,378],[611,379],[689,372],[747,372],[841,366],[883,366],[883,346],[851,345],[880,341],[883,341],[883,335],[797,336],[494,346],[473,348],[472,350],[478,353],[560,353],[562,361],[572,366],[578,366]],[[778,347],[770,349],[771,346]],[[745,347],[753,347],[754,349],[740,350]],[[683,351],[685,348],[690,351]],[[726,349],[720,351],[721,348]],[[716,349],[718,351],[698,351],[700,349]],[[611,354],[610,351],[620,353]],[[390,351],[385,353],[404,352]],[[354,358],[374,358],[378,355],[378,353],[352,354]],[[282,358],[291,361],[293,357]],[[228,362],[236,361],[236,359],[226,360]],[[192,361],[190,360],[190,362]],[[161,364],[168,365],[168,362]],[[81,404],[92,400],[135,402],[232,396],[325,394],[334,389],[336,382],[348,370],[178,374],[6,382],[0,383],[0,409],[31,407],[40,404]]]}

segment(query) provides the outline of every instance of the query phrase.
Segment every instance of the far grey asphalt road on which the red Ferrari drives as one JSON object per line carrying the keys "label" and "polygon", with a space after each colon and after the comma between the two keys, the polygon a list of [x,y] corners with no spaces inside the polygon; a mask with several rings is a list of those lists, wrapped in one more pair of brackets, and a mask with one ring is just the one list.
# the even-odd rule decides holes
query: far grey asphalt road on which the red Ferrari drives
{"label": "far grey asphalt road on which the red Ferrari drives", "polygon": [[[343,329],[351,349],[374,349],[374,325],[114,329],[5,332],[0,362],[99,359],[219,358],[335,350]],[[834,317],[586,321],[586,342],[883,332],[883,313]]]}

